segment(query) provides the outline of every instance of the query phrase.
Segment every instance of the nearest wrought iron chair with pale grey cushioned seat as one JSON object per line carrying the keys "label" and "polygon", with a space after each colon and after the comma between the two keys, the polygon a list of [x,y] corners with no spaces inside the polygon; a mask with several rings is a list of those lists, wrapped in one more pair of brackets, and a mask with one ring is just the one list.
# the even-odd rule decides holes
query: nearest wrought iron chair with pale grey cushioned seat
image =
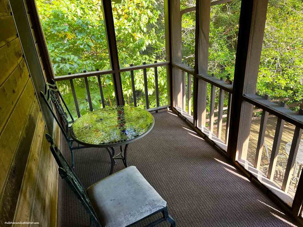
{"label": "nearest wrought iron chair with pale grey cushioned seat", "polygon": [[[146,227],[167,221],[175,227],[174,219],[168,215],[166,202],[146,181],[135,166],[122,169],[88,187],[85,191],[80,180],[68,165],[64,156],[45,134],[51,144],[50,150],[59,166],[59,174],[76,194],[90,216],[90,226],[132,226],[151,215],[162,213],[163,217]],[[123,205],[122,205],[123,204]]]}

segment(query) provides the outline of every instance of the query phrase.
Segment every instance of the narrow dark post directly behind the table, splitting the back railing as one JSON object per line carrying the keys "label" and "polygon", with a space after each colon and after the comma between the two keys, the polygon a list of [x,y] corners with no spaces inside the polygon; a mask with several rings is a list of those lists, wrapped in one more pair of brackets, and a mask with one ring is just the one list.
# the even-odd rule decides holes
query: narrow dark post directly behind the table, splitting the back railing
{"label": "narrow dark post directly behind the table, splitting the back railing", "polygon": [[121,75],[119,72],[120,65],[118,58],[117,40],[116,40],[115,25],[114,25],[114,18],[112,12],[112,1],[102,0],[102,3],[103,3],[103,17],[106,27],[109,59],[111,62],[112,70],[115,71],[115,73],[112,74],[112,78],[115,88],[116,103],[117,105],[124,105]]}

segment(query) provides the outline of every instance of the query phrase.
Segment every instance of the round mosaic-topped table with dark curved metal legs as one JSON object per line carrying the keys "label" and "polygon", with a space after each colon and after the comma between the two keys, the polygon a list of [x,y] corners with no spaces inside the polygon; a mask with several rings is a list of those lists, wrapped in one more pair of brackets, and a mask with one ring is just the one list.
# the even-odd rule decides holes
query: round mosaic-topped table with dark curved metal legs
{"label": "round mosaic-topped table with dark curved metal legs", "polygon": [[[115,106],[82,115],[72,124],[70,132],[78,143],[87,147],[106,148],[111,158],[112,174],[116,159],[121,159],[124,166],[128,166],[128,144],[149,133],[154,123],[154,117],[147,110]],[[120,146],[120,153],[117,155],[114,146]]]}

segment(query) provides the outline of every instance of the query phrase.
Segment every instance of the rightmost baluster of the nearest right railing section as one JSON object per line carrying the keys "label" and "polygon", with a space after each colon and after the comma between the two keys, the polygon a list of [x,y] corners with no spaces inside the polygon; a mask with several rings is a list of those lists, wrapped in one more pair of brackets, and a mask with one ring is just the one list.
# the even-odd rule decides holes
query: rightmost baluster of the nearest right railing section
{"label": "rightmost baluster of the nearest right railing section", "polygon": [[[303,110],[299,110],[299,114],[303,115]],[[291,177],[295,176],[295,172],[293,168],[295,166],[295,161],[298,153],[299,144],[301,141],[302,129],[298,126],[295,127],[294,137],[292,138],[291,147],[289,151],[288,161],[285,169],[285,175],[282,183],[281,189],[285,192],[288,192],[289,183],[291,181]],[[293,174],[292,174],[293,173]]]}

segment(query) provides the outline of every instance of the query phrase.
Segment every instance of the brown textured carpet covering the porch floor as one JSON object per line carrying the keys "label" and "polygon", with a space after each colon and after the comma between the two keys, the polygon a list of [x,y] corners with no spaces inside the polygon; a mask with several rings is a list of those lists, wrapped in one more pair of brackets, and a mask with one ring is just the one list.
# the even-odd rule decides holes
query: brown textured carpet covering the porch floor
{"label": "brown textured carpet covering the porch floor", "polygon": [[[154,117],[151,132],[129,145],[129,163],[167,201],[178,227],[295,226],[294,220],[179,117],[170,111]],[[61,150],[70,158],[63,137]],[[85,188],[107,176],[109,166],[105,149],[75,151],[75,173]],[[122,168],[118,160],[114,171]],[[62,179],[58,226],[89,226],[88,215]]]}

